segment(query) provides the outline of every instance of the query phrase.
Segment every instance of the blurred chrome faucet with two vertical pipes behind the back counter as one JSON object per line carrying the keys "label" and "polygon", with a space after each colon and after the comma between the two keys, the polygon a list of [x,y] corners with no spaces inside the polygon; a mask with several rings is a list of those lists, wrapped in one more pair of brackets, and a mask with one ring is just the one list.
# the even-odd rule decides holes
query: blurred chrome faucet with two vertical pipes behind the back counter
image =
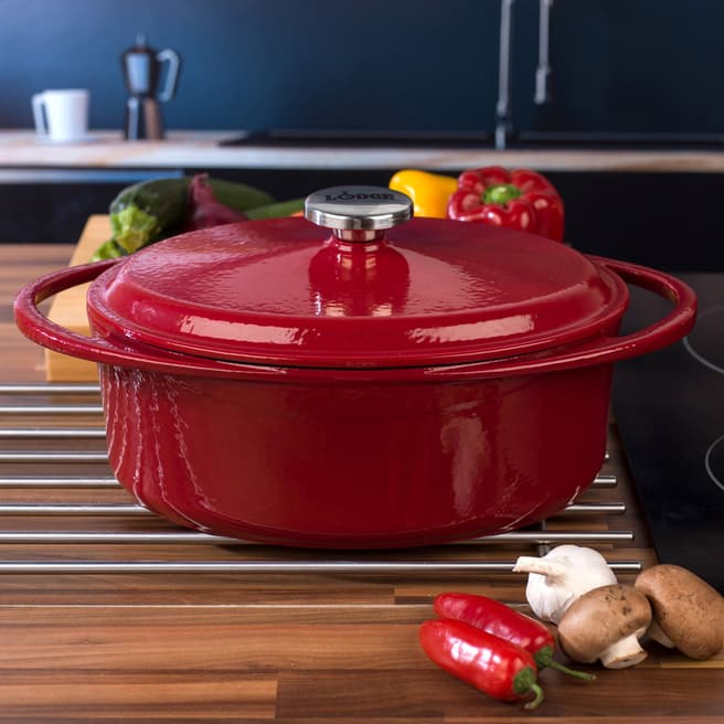
{"label": "blurred chrome faucet with two vertical pipes behind the back counter", "polygon": [[[553,0],[539,0],[539,61],[535,71],[535,95],[533,100],[545,104],[551,100],[551,64],[549,47],[551,40],[551,8]],[[503,150],[513,135],[512,71],[513,4],[515,0],[500,3],[500,54],[498,63],[498,103],[496,104],[496,148]]]}

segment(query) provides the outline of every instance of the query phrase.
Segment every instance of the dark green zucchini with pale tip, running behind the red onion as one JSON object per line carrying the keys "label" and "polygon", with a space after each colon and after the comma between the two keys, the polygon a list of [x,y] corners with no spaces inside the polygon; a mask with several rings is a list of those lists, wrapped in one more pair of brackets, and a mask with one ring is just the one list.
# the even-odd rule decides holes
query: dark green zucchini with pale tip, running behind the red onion
{"label": "dark green zucchini with pale tip, running behind the red onion", "polygon": [[[164,238],[183,226],[191,177],[151,179],[124,189],[110,203],[114,239],[127,254]],[[270,204],[259,189],[222,179],[209,179],[216,200],[236,211]]]}

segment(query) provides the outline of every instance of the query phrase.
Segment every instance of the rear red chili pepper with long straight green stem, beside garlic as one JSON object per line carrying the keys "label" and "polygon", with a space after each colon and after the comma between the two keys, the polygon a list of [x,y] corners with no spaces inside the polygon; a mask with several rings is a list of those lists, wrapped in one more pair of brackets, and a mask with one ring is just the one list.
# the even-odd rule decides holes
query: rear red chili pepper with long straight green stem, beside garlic
{"label": "rear red chili pepper with long straight green stem, beside garlic", "polygon": [[443,618],[465,621],[520,646],[533,656],[540,669],[550,667],[589,681],[596,678],[592,673],[574,671],[555,661],[553,659],[555,638],[547,627],[494,598],[475,594],[445,593],[435,598],[433,606],[435,613]]}

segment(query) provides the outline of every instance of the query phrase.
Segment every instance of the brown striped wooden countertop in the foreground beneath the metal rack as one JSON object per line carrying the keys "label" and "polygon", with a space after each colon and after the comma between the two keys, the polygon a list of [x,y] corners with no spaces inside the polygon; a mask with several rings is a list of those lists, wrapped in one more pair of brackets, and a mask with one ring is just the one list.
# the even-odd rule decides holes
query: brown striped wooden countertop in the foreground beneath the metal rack
{"label": "brown striped wooden countertop in the foreground beneath the metal rack", "polygon": [[[42,382],[43,354],[12,322],[18,288],[64,265],[66,246],[0,246],[0,383]],[[47,422],[8,412],[12,395],[2,393],[0,430]],[[35,402],[58,397],[35,394]],[[11,400],[12,402],[12,400]],[[51,415],[53,417],[53,415]],[[73,425],[97,425],[88,415]],[[60,419],[60,418],[58,418]],[[55,420],[67,426],[67,418]],[[19,440],[0,438],[3,451]],[[29,449],[103,449],[103,440],[30,440]],[[586,500],[611,497],[627,503],[622,515],[598,515],[576,525],[630,529],[632,542],[598,545],[613,562],[654,562],[615,427],[611,459],[604,472],[619,476],[615,490],[592,489]],[[103,465],[95,466],[98,473]],[[73,476],[79,462],[0,462],[8,476]],[[83,468],[84,470],[86,468]],[[1,503],[91,502],[127,504],[118,487],[66,490],[0,487]],[[40,514],[0,514],[2,531],[38,531]],[[172,532],[169,524],[106,515],[65,517],[65,531],[98,529],[129,532],[141,525]],[[550,526],[556,530],[552,519]],[[524,600],[524,577],[500,573],[78,573],[54,565],[128,562],[136,558],[183,562],[199,544],[0,542],[0,721],[152,722],[275,721],[457,723],[557,722],[571,724],[720,724],[724,721],[724,654],[704,663],[650,646],[649,658],[625,671],[596,669],[593,683],[543,671],[546,700],[536,713],[500,703],[436,669],[417,645],[418,624],[432,616],[430,601],[446,589]],[[534,546],[530,546],[533,547]],[[407,552],[405,560],[475,562],[494,555],[490,546],[447,546]],[[503,546],[515,556],[515,547]],[[203,557],[238,564],[262,555],[258,546],[206,545]],[[266,551],[276,561],[309,556],[299,551]],[[323,557],[323,556],[321,556]],[[349,555],[347,558],[351,557]],[[368,556],[393,560],[393,554]],[[267,560],[269,560],[267,558]],[[8,569],[9,561],[46,562],[44,572]],[[629,582],[632,573],[619,578]]]}

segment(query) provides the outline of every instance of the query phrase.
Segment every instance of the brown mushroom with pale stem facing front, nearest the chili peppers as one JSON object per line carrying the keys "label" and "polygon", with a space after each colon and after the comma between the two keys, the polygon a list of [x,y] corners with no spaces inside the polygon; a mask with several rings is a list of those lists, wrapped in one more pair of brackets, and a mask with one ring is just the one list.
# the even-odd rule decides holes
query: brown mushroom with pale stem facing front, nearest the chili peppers
{"label": "brown mushroom with pale stem facing front, nearest the chili peppers", "polygon": [[625,669],[646,659],[639,645],[651,622],[646,596],[632,586],[611,584],[584,594],[558,624],[558,641],[574,661]]}

